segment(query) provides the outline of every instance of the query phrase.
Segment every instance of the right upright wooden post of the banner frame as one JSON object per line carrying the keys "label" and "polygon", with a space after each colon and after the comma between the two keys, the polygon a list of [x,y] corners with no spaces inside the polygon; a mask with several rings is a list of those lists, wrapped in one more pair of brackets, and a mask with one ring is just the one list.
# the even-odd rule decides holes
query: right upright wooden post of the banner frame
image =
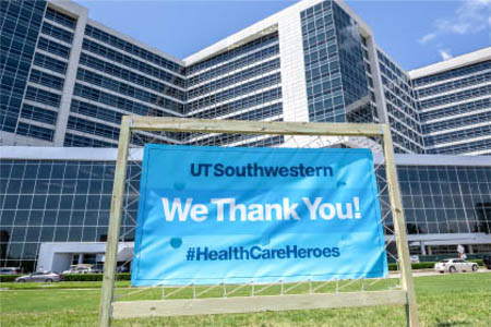
{"label": "right upright wooden post of the banner frame", "polygon": [[412,279],[411,264],[409,261],[409,245],[407,243],[406,223],[404,220],[403,201],[400,199],[399,183],[397,180],[397,169],[395,164],[394,147],[392,144],[391,129],[388,124],[383,125],[385,171],[388,184],[388,195],[391,198],[392,216],[394,221],[394,232],[397,242],[397,256],[400,261],[400,280],[403,290],[407,294],[406,316],[410,327],[419,326],[418,307],[416,304],[415,281]]}

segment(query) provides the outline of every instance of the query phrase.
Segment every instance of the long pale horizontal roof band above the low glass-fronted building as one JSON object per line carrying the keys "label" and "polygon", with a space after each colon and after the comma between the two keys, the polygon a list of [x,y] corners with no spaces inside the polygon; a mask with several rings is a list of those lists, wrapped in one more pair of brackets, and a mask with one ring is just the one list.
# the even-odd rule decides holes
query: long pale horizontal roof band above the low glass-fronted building
{"label": "long pale horizontal roof band above the low glass-fronted building", "polygon": [[[37,147],[37,146],[0,146],[0,160],[77,160],[77,161],[116,161],[117,148],[92,147]],[[143,148],[131,148],[132,160],[141,161]],[[382,162],[382,155],[375,154],[374,161]],[[396,155],[399,166],[471,166],[491,167],[489,156],[448,156],[448,155]]]}

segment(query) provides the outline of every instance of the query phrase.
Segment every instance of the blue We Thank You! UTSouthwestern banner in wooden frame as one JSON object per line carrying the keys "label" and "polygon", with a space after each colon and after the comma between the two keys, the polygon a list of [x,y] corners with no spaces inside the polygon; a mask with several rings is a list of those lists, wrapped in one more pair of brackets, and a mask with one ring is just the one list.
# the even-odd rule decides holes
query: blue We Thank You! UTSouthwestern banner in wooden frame
{"label": "blue We Thank You! UTSouthwestern banner in wooden frame", "polygon": [[387,276],[368,149],[147,145],[133,286]]}

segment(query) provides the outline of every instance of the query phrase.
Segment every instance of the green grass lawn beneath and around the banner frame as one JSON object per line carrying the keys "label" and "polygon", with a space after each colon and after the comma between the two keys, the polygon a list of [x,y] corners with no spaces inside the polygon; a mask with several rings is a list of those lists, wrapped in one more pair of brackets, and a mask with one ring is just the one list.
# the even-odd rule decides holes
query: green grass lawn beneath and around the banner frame
{"label": "green grass lawn beneath and around the banner frame", "polygon": [[[395,280],[382,280],[373,286],[364,281],[368,290],[387,289]],[[0,326],[95,326],[100,282],[62,282],[48,287],[40,283],[2,283],[8,291],[0,292]],[[121,300],[160,299],[161,290],[153,289],[128,295],[135,289],[120,281],[117,294]],[[313,287],[316,287],[314,284]],[[339,291],[360,290],[361,281],[340,282]],[[319,291],[334,291],[328,283]],[[285,287],[287,289],[287,287]],[[256,288],[255,291],[259,289]],[[308,292],[302,284],[292,293]],[[419,316],[422,326],[491,326],[491,274],[456,274],[416,278]],[[166,292],[170,292],[166,289]],[[199,293],[201,289],[197,289]],[[228,290],[229,291],[229,290]],[[243,288],[242,293],[250,293]],[[262,294],[279,292],[279,286]],[[219,288],[206,296],[219,296]],[[192,290],[176,294],[192,296]],[[380,306],[337,310],[309,310],[264,312],[252,314],[203,315],[192,317],[117,319],[112,326],[404,326],[403,306]]]}

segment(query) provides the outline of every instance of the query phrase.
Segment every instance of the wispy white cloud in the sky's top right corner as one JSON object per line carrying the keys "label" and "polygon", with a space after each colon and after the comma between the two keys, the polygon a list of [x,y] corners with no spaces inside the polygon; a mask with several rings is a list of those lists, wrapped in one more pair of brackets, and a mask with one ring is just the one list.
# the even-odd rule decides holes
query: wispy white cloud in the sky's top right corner
{"label": "wispy white cloud in the sky's top right corner", "polygon": [[468,35],[491,26],[491,0],[463,0],[452,17],[439,19],[434,29],[418,41],[422,45],[444,34]]}

